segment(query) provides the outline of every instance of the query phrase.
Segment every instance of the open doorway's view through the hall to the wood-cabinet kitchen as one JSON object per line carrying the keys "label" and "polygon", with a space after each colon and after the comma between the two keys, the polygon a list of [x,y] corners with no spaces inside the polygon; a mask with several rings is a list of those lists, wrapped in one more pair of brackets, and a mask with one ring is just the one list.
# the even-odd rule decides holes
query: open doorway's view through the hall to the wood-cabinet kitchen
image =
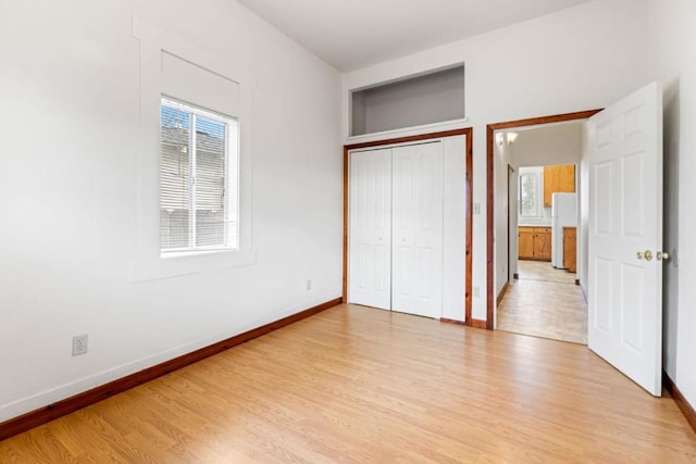
{"label": "open doorway's view through the hall to the wood-cabinet kitchen", "polygon": [[[510,161],[517,166],[508,168],[513,172],[508,179],[509,214],[502,224],[505,227],[500,224],[504,220],[496,218],[499,224],[496,241],[500,242],[499,234],[506,231],[510,241],[505,253],[496,247],[496,328],[499,330],[587,342],[587,311],[576,286],[580,198],[576,166],[582,155],[583,128],[582,123],[568,123],[519,130],[513,133],[519,135],[515,142],[519,150],[514,150],[512,143],[507,147]],[[543,139],[547,141],[540,143]],[[554,143],[554,139],[561,143]],[[563,145],[564,152],[558,145]],[[497,146],[496,150],[500,152],[501,148]],[[542,162],[546,155],[549,161],[557,156],[575,163],[520,165]],[[498,187],[496,193],[501,203],[502,189]],[[511,276],[504,276],[506,264]]]}

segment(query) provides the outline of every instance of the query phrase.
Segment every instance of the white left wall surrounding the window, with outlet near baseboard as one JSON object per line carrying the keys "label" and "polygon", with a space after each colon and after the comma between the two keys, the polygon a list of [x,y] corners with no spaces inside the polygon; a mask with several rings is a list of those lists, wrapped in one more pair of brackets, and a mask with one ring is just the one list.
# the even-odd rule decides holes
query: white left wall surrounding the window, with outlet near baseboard
{"label": "white left wall surrounding the window, with outlet near baseboard", "polygon": [[[253,77],[252,265],[129,279],[134,15]],[[236,2],[3,2],[0,68],[0,421],[341,294],[339,75]]]}

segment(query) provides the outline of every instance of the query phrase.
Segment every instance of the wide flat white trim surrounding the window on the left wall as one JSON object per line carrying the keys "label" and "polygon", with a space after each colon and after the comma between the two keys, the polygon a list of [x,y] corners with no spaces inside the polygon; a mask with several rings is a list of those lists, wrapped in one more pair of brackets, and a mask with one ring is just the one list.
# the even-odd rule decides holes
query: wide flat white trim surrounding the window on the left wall
{"label": "wide flat white trim surrounding the window on the left wall", "polygon": [[[252,97],[253,75],[235,68],[206,50],[134,17],[133,35],[140,41],[140,139],[137,165],[135,251],[130,280],[147,281],[199,273],[221,272],[256,263],[251,241]],[[160,252],[160,101],[165,91],[162,54],[169,53],[239,85],[239,249]],[[196,104],[197,102],[191,102]],[[216,110],[216,109],[212,109]]]}

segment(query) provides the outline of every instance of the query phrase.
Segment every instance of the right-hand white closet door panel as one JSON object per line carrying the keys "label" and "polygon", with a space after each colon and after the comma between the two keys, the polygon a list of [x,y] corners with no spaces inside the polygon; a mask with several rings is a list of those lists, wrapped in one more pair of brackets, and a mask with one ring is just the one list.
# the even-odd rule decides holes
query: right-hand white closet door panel
{"label": "right-hand white closet door panel", "polygon": [[391,310],[443,311],[443,143],[393,150]]}

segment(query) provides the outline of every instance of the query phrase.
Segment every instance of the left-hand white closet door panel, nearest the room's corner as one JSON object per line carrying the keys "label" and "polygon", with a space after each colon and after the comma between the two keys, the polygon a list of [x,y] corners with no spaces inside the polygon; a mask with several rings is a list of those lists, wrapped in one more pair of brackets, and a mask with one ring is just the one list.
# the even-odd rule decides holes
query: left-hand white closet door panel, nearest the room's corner
{"label": "left-hand white closet door panel, nearest the room's corner", "polygon": [[348,301],[391,309],[391,149],[350,155]]}

